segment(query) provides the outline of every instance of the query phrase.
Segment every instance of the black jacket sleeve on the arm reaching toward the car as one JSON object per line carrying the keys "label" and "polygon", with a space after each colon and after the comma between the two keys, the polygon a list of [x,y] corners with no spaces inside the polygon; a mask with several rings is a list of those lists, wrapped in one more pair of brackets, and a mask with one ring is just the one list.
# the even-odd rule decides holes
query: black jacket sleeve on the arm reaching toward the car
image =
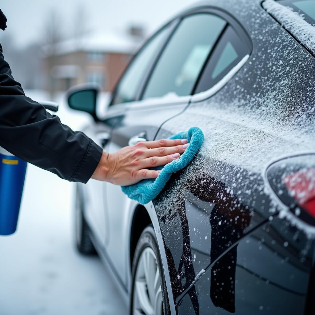
{"label": "black jacket sleeve on the arm reaching toward the car", "polygon": [[0,45],[0,146],[59,177],[86,183],[102,149],[82,132],[74,132],[16,82]]}

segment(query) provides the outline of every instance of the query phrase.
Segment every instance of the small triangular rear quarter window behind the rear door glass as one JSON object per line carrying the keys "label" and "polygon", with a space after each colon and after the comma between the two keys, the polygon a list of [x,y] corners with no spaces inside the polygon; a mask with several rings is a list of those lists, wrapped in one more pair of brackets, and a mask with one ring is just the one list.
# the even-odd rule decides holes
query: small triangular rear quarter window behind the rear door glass
{"label": "small triangular rear quarter window behind the rear door glass", "polygon": [[194,93],[210,89],[249,53],[232,26],[228,26],[213,49]]}

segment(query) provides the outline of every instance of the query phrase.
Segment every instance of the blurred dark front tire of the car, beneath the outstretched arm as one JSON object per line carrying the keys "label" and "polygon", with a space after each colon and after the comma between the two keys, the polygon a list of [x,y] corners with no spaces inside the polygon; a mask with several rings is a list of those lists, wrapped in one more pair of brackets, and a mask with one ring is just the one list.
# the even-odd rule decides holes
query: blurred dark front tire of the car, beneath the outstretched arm
{"label": "blurred dark front tire of the car, beneath the outstretched arm", "polygon": [[89,226],[83,216],[83,201],[80,195],[80,189],[77,185],[75,200],[75,240],[79,253],[83,255],[95,255],[96,250],[90,238]]}

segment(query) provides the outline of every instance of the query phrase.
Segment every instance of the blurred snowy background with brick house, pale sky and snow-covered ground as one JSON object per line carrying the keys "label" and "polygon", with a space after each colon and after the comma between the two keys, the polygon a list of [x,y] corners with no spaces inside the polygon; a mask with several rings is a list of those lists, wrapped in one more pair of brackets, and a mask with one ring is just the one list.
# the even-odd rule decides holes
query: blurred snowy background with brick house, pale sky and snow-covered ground
{"label": "blurred snowy background with brick house, pale sky and snow-covered ground", "polygon": [[[59,103],[73,130],[91,122],[66,105],[71,86],[95,82],[108,98],[128,60],[193,0],[4,0],[0,43],[13,77],[34,100]],[[98,257],[74,248],[74,184],[28,165],[18,230],[0,237],[0,314],[127,314]]]}

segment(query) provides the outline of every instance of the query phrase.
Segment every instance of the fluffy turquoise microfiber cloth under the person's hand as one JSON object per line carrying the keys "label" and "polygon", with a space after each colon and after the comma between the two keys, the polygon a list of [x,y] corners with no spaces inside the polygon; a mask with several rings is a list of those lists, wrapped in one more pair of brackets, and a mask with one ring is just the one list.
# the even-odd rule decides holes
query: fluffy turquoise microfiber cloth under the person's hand
{"label": "fluffy turquoise microfiber cloth under the person's hand", "polygon": [[180,158],[161,166],[161,173],[156,179],[141,180],[139,183],[129,186],[122,186],[121,189],[129,198],[134,199],[141,204],[146,204],[157,197],[162,191],[167,181],[170,179],[172,173],[183,169],[190,163],[193,157],[200,149],[203,142],[203,132],[197,128],[192,127],[187,132],[180,132],[177,135],[171,136],[169,139],[188,139],[189,146]]}

